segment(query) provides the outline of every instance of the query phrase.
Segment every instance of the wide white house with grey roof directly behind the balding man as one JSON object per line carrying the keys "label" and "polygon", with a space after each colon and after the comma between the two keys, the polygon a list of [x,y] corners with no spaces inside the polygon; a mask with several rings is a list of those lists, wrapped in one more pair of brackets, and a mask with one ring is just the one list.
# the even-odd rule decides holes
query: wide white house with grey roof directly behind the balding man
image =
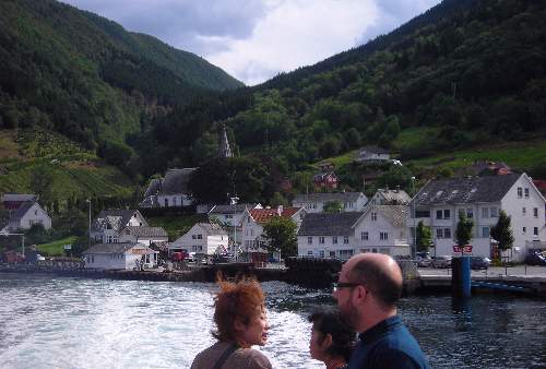
{"label": "wide white house with grey roof directly behind the balding man", "polygon": [[308,214],[298,231],[298,255],[346,260],[360,252],[408,255],[407,206],[368,206],[364,212]]}

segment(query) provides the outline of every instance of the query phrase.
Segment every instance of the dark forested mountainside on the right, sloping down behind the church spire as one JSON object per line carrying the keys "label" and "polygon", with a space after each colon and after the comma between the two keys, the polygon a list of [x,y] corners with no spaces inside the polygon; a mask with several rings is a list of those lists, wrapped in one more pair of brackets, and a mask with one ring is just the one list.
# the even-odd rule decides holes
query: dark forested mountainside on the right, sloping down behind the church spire
{"label": "dark forested mountainside on the right, sloping down behind the church spire", "polygon": [[[162,154],[149,157],[146,168],[203,163],[214,154],[217,121],[240,154],[266,158],[287,177],[364,144],[407,160],[544,140],[545,19],[545,1],[444,0],[391,34],[316,66],[175,109],[147,136]],[[192,144],[177,145],[198,122]],[[407,130],[417,132],[412,144],[397,140]],[[358,176],[344,179],[361,183]]]}

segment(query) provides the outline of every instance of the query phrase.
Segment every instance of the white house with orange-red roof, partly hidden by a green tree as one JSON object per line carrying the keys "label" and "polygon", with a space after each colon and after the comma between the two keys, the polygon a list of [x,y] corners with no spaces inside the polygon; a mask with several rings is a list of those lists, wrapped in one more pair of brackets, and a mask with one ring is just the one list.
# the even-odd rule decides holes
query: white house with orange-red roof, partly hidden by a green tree
{"label": "white house with orange-red roof, partly hidden by a green tree", "polygon": [[[242,217],[242,251],[249,254],[250,260],[260,265],[268,260],[266,240],[263,237],[263,226],[276,216],[290,218],[297,229],[305,216],[302,207],[277,207],[246,210]],[[296,229],[296,231],[297,231]]]}

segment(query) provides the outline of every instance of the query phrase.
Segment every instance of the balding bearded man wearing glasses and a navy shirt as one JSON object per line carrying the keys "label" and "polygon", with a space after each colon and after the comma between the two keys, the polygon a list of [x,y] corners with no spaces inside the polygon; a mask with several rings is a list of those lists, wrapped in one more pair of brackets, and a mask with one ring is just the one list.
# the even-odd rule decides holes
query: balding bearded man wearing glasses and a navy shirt
{"label": "balding bearded man wearing glasses and a navy shirt", "polygon": [[419,344],[396,314],[402,272],[389,255],[360,253],[342,269],[333,296],[359,334],[349,369],[428,368]]}

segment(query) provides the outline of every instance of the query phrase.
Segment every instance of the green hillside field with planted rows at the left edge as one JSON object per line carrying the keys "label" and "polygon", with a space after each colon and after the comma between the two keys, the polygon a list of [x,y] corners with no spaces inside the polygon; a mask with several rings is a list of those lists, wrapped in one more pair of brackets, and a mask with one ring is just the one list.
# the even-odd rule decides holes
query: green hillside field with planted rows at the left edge
{"label": "green hillside field with planted rows at the left edge", "polygon": [[49,131],[0,130],[0,193],[32,192],[37,168],[52,175],[52,198],[129,197],[133,183],[94,153]]}

